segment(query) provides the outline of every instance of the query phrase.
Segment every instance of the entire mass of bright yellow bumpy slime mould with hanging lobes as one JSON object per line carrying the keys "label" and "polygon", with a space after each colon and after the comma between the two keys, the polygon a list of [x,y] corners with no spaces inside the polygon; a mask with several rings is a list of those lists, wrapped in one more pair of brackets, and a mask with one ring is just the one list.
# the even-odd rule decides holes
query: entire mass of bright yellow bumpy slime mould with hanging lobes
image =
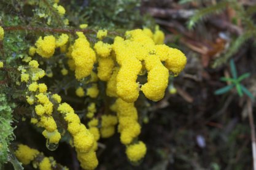
{"label": "entire mass of bright yellow bumpy slime mould with hanging lobes", "polygon": [[[53,7],[63,18],[64,8],[58,4],[54,4]],[[50,19],[47,23],[50,23]],[[82,29],[86,27],[87,25],[80,25]],[[82,31],[86,32],[87,30]],[[71,35],[69,35],[69,41],[68,34],[61,34],[56,38],[54,36],[39,37],[35,47],[29,48],[30,56],[37,53],[44,58],[41,58],[39,63],[42,68],[46,68],[45,71],[39,68],[39,63],[36,60],[31,60],[30,56],[23,56],[23,61],[29,62],[29,67],[20,66],[18,71],[21,71],[21,82],[26,82],[28,87],[26,101],[30,105],[35,105],[31,106],[34,107],[34,111],[30,121],[36,126],[44,128],[42,135],[50,144],[58,144],[61,135],[64,135],[64,130],[61,128],[66,127],[67,133],[72,137],[71,145],[75,147],[77,158],[83,169],[96,168],[98,160],[95,150],[98,149],[99,138],[111,137],[115,131],[120,133],[120,141],[126,146],[128,159],[137,163],[145,156],[147,149],[143,142],[138,142],[141,125],[134,103],[138,99],[140,91],[152,101],[162,99],[168,87],[169,75],[178,75],[184,69],[187,58],[180,50],[163,44],[165,34],[158,27],[155,29],[155,33],[148,28],[126,31],[125,36],[115,37],[113,44],[107,44],[106,42],[111,41],[104,39],[107,36],[107,30],[98,31],[98,42],[92,41],[94,44],[87,40],[83,32],[76,32],[76,34],[77,39],[74,40],[74,43],[72,43]],[[93,36],[88,37],[91,41]],[[50,58],[55,53],[55,48],[58,47],[60,50],[57,50],[56,58]],[[62,56],[66,58],[61,58]],[[47,58],[50,59],[47,61]],[[52,61],[56,61],[56,64],[52,64]],[[68,62],[66,63],[66,61]],[[67,64],[71,71],[66,69]],[[55,77],[58,76],[58,73],[69,74],[66,77],[63,76],[63,83],[72,79],[72,71],[76,77],[76,80],[67,83],[60,90],[64,90],[66,93],[69,87],[79,86],[76,89],[76,95],[90,97],[83,98],[83,103],[88,104],[87,108],[83,108],[83,110],[87,109],[85,122],[88,128],[80,122],[81,115],[77,115],[69,104],[61,103],[60,95],[52,94],[51,91],[47,92],[45,83],[37,84],[37,80],[44,77],[45,72],[48,77],[53,77],[52,70],[55,71],[55,66],[60,69],[59,72],[56,72]],[[144,82],[144,79],[141,79],[142,75],[147,75],[147,82],[141,83]],[[74,86],[72,87],[72,85]],[[103,87],[100,92],[105,92],[106,95],[98,96],[98,86]],[[53,87],[49,88],[53,89]],[[105,89],[106,91],[103,91]],[[116,99],[114,104],[109,108],[99,109],[103,100],[107,100],[104,101],[104,107],[114,100],[109,97]],[[76,109],[80,110],[80,107]],[[116,115],[113,112],[116,112]],[[58,120],[59,117],[62,117],[62,121]],[[141,118],[144,117],[140,117],[140,120]],[[117,129],[115,129],[116,125]],[[63,133],[60,134],[57,128]],[[33,156],[30,155],[29,158],[24,158],[25,162],[30,163],[36,154],[39,152],[31,154]],[[41,160],[39,169],[54,169],[52,158],[42,158]]]}

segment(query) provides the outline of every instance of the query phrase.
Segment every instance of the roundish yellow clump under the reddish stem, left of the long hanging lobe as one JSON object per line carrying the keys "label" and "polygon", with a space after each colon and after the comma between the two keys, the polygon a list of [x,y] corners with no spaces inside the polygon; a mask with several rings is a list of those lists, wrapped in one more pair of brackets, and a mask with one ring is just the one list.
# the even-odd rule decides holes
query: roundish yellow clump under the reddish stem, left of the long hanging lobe
{"label": "roundish yellow clump under the reddish stem, left of the long hanging lobe", "polygon": [[36,41],[36,53],[44,58],[50,58],[55,52],[55,37],[45,36],[44,39],[39,37]]}

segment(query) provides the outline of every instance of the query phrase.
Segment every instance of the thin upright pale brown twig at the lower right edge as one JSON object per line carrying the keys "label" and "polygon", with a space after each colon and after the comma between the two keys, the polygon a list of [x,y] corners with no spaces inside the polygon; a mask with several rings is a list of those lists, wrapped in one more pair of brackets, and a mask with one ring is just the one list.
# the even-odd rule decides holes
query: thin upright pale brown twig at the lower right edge
{"label": "thin upright pale brown twig at the lower right edge", "polygon": [[252,158],[254,163],[254,170],[256,170],[256,139],[255,139],[255,128],[254,128],[254,116],[252,115],[252,101],[248,98],[247,108],[250,122],[250,133],[252,138]]}

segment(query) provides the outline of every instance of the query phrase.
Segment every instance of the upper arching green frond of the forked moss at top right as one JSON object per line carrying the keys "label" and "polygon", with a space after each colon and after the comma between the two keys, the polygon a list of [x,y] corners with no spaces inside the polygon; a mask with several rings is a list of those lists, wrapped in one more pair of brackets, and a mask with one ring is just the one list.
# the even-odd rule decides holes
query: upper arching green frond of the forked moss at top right
{"label": "upper arching green frond of the forked moss at top right", "polygon": [[190,20],[188,21],[188,25],[187,25],[188,29],[192,29],[193,26],[195,26],[196,23],[198,23],[198,21],[203,20],[209,15],[219,14],[227,7],[228,4],[229,4],[228,1],[222,1],[215,5],[198,10],[195,13],[195,15],[193,15],[193,17],[191,17]]}

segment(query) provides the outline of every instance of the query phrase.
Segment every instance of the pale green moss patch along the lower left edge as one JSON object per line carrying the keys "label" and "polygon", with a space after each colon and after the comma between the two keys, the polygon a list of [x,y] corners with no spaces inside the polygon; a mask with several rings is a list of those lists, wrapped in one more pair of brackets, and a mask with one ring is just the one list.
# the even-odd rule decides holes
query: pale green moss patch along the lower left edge
{"label": "pale green moss patch along the lower left edge", "polygon": [[14,140],[14,128],[11,126],[14,106],[7,101],[6,95],[0,94],[0,167],[9,160],[9,144]]}

